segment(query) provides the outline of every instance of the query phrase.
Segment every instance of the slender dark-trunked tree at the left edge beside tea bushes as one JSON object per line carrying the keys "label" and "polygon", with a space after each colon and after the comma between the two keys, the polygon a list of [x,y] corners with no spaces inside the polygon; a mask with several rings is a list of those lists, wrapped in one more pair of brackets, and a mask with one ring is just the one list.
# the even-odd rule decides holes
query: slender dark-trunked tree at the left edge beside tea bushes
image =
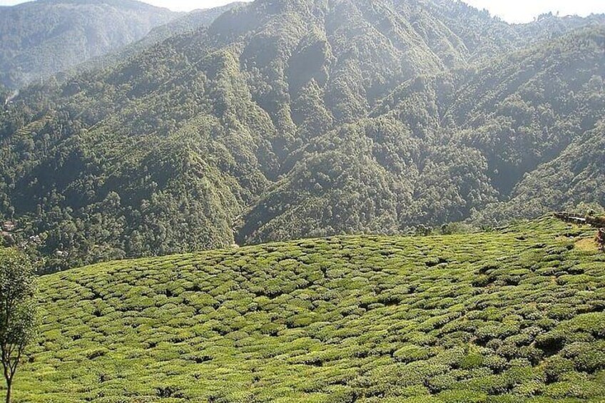
{"label": "slender dark-trunked tree at the left edge beside tea bushes", "polygon": [[26,346],[36,334],[36,282],[29,258],[14,249],[0,249],[0,350],[6,403]]}

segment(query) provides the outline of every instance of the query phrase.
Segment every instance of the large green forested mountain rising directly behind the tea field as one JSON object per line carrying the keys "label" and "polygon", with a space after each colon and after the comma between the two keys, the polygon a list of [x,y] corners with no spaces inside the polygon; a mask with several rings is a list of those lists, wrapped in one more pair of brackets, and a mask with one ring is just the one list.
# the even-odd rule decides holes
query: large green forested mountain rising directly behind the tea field
{"label": "large green forested mountain rising directly behind the tea field", "polygon": [[604,21],[509,25],[449,0],[235,7],[6,107],[9,241],[65,267],[605,205]]}

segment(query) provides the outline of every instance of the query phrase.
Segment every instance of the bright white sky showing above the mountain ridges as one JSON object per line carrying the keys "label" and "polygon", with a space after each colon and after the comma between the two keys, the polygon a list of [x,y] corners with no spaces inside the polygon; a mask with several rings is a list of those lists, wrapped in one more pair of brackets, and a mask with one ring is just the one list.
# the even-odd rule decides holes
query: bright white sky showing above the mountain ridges
{"label": "bright white sky showing above the mountain ridges", "polygon": [[[230,3],[230,0],[143,0],[175,11],[207,9]],[[453,0],[452,0],[453,1]],[[464,0],[509,22],[529,22],[539,14],[552,11],[561,16],[605,13],[605,0]],[[23,3],[23,0],[0,0],[0,5]]]}

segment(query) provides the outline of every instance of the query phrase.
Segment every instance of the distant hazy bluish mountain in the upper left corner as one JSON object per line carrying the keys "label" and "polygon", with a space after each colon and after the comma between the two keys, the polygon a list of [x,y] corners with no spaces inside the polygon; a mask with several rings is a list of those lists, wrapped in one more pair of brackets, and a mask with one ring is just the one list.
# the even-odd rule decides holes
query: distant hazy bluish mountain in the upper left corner
{"label": "distant hazy bluish mountain in the upper left corner", "polygon": [[0,83],[19,88],[138,41],[178,16],[133,0],[0,6]]}

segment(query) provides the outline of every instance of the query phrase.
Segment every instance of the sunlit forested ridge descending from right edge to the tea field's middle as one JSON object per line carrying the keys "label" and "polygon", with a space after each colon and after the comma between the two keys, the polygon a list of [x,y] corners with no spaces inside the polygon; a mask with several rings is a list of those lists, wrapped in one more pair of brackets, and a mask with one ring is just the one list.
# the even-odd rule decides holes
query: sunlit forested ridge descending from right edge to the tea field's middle
{"label": "sunlit forested ridge descending from right edge to the tea field's middle", "polygon": [[[605,29],[587,29],[477,71],[407,81],[369,120],[305,146],[295,168],[245,218],[252,225],[242,240],[397,233],[463,220],[507,200],[525,173],[558,158],[586,131],[602,134],[596,123],[605,113],[604,49]],[[560,158],[590,159],[590,148]],[[598,160],[593,170],[601,169]],[[596,183],[558,201],[605,204]],[[539,214],[556,208],[549,203]]]}

